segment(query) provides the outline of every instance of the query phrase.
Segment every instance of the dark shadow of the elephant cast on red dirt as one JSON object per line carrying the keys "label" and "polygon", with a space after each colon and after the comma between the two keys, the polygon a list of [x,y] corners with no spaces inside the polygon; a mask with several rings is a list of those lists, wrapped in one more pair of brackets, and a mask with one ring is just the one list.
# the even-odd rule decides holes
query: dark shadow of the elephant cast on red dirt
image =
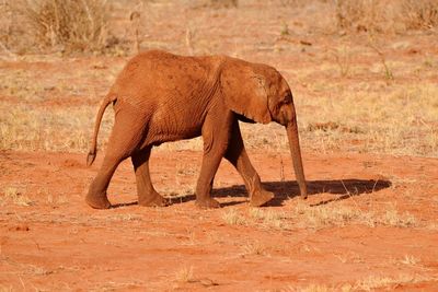
{"label": "dark shadow of the elephant cast on red dirt", "polygon": [[[275,194],[274,199],[272,199],[266,206],[268,207],[279,207],[283,206],[285,200],[299,196],[299,187],[296,182],[265,182],[264,187]],[[309,196],[328,192],[333,195],[338,195],[336,198],[331,198],[327,200],[322,200],[318,203],[311,205],[312,207],[331,203],[333,201],[345,200],[353,196],[361,196],[367,194],[372,194],[381,189],[391,187],[392,183],[384,179],[333,179],[333,180],[308,180],[308,194]],[[244,203],[247,200],[247,191],[244,185],[233,185],[230,187],[214,188],[211,190],[211,196],[215,198],[226,198],[245,197],[245,200],[222,202],[221,207],[233,206],[239,203]],[[189,194],[185,196],[177,196],[169,198],[170,205],[183,203],[187,201],[195,200],[195,195]],[[126,207],[131,205],[137,205],[138,202],[130,203],[119,203],[113,206],[113,208]]]}

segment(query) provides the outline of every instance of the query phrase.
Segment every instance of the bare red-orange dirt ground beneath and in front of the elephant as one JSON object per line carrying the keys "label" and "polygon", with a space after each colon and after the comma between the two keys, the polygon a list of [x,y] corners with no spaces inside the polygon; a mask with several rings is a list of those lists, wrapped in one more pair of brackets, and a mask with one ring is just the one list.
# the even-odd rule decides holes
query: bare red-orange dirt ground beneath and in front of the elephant
{"label": "bare red-orange dirt ground beneath and in front of the elephant", "polygon": [[[159,190],[191,192],[201,153],[152,155]],[[83,201],[102,153],[87,168],[79,154],[1,152],[0,185],[26,186],[32,206],[8,202],[0,208],[0,283],[13,290],[50,291],[293,291],[311,283],[365,290],[374,279],[378,288],[436,291],[436,159],[304,153],[312,195],[302,202],[293,197],[298,189],[290,183],[288,153],[250,155],[277,195],[263,210],[286,214],[286,226],[267,227],[251,220],[227,223],[223,217],[231,210],[249,217],[250,209],[242,182],[227,162],[215,182],[215,196],[223,205],[219,210],[198,210],[191,195],[166,208],[138,207],[126,161],[110,187],[110,200],[118,208],[102,211]],[[347,222],[309,227],[287,217],[300,203],[360,206],[364,212],[395,206],[400,213],[414,215],[416,225]],[[326,291],[318,288],[309,291]]]}

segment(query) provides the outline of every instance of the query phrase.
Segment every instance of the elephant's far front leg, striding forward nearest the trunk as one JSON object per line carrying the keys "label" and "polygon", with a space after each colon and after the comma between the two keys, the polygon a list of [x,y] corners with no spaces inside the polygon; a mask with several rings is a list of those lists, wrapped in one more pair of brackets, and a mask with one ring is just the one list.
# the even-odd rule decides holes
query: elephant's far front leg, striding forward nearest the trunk
{"label": "elephant's far front leg, striding forward nearest the trunk", "polygon": [[238,170],[250,194],[250,203],[260,207],[274,198],[274,192],[263,188],[257,172],[251,164],[245,147],[243,145],[239,121],[234,121],[232,136],[224,157]]}

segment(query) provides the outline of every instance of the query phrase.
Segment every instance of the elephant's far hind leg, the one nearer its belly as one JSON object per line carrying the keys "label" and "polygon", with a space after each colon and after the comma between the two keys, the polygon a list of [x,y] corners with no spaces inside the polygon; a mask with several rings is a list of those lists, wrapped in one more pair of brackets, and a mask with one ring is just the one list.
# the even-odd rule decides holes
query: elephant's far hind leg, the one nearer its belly
{"label": "elephant's far hind leg, the one nearer its belly", "polygon": [[153,188],[149,173],[149,156],[151,148],[131,156],[136,173],[138,205],[146,207],[164,207],[169,202]]}

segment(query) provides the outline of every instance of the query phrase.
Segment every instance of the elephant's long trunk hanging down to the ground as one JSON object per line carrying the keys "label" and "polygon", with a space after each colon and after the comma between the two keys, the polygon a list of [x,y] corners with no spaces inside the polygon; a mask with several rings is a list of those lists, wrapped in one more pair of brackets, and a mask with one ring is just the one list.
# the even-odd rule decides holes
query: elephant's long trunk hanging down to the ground
{"label": "elephant's long trunk hanging down to the ground", "polygon": [[298,186],[300,187],[301,198],[308,197],[308,189],[306,186],[304,170],[302,167],[300,141],[298,137],[297,120],[293,119],[286,126],[287,136],[289,139],[290,154],[292,156],[295,175]]}

